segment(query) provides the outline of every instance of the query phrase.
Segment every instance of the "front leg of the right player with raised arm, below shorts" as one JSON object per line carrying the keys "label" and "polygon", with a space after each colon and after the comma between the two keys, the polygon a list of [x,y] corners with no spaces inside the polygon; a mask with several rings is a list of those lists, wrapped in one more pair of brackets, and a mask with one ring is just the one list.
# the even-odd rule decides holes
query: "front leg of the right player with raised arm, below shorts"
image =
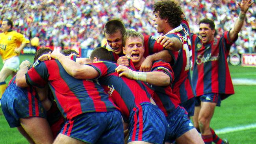
{"label": "front leg of the right player with raised arm, below shorts", "polygon": [[210,121],[217,103],[201,102],[201,110],[198,115],[199,129],[205,144],[211,144],[213,137],[210,130]]}

